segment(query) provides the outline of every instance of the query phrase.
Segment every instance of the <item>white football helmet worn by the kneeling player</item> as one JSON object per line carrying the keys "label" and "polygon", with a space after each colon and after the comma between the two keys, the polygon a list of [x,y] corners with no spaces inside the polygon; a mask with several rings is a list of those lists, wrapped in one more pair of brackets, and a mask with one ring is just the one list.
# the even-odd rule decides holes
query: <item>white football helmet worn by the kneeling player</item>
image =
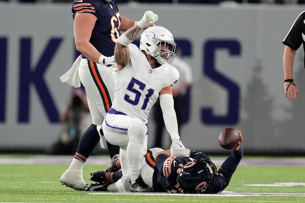
{"label": "white football helmet worn by the kneeling player", "polygon": [[[158,48],[158,44],[170,45],[169,51]],[[175,57],[176,43],[172,33],[162,26],[151,26],[143,31],[140,39],[140,50],[157,59],[158,63],[171,63]],[[167,52],[167,58],[161,57],[161,52]]]}

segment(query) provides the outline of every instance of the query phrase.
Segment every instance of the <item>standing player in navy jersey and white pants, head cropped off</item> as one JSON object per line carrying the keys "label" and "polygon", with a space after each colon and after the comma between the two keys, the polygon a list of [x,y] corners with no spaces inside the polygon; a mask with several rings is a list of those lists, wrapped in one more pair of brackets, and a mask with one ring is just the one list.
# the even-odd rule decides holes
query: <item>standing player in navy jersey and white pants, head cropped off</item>
{"label": "standing player in navy jersey and white pants, head cropped off", "polygon": [[[74,87],[80,86],[80,82],[83,84],[92,124],[80,138],[74,158],[60,182],[75,190],[84,190],[88,185],[83,180],[82,168],[100,141],[97,126],[102,125],[113,98],[114,46],[120,30],[126,31],[137,22],[120,16],[115,0],[75,0],[72,13],[75,45],[81,56],[60,79]],[[118,153],[117,146],[108,142],[107,146],[110,157]]]}

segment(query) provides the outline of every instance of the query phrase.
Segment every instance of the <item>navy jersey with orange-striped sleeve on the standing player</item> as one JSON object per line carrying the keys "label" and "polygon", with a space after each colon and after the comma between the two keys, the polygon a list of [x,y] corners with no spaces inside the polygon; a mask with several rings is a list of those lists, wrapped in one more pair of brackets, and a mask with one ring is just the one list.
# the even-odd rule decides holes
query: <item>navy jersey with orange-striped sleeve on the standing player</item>
{"label": "navy jersey with orange-striped sleeve on the standing player", "polygon": [[76,13],[90,13],[97,17],[90,43],[103,55],[112,56],[120,36],[120,16],[115,1],[75,0],[72,6],[73,19]]}

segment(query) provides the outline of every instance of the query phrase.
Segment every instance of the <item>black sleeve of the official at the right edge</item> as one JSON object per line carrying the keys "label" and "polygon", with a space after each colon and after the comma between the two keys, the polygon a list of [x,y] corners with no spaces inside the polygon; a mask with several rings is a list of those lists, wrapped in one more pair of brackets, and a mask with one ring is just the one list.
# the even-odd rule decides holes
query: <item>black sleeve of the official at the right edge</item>
{"label": "black sleeve of the official at the right edge", "polygon": [[[301,44],[303,44],[303,50],[305,53],[305,11],[299,14],[294,23],[292,24],[287,36],[283,40],[283,44],[297,50]],[[305,57],[304,57],[304,66],[305,66]]]}

